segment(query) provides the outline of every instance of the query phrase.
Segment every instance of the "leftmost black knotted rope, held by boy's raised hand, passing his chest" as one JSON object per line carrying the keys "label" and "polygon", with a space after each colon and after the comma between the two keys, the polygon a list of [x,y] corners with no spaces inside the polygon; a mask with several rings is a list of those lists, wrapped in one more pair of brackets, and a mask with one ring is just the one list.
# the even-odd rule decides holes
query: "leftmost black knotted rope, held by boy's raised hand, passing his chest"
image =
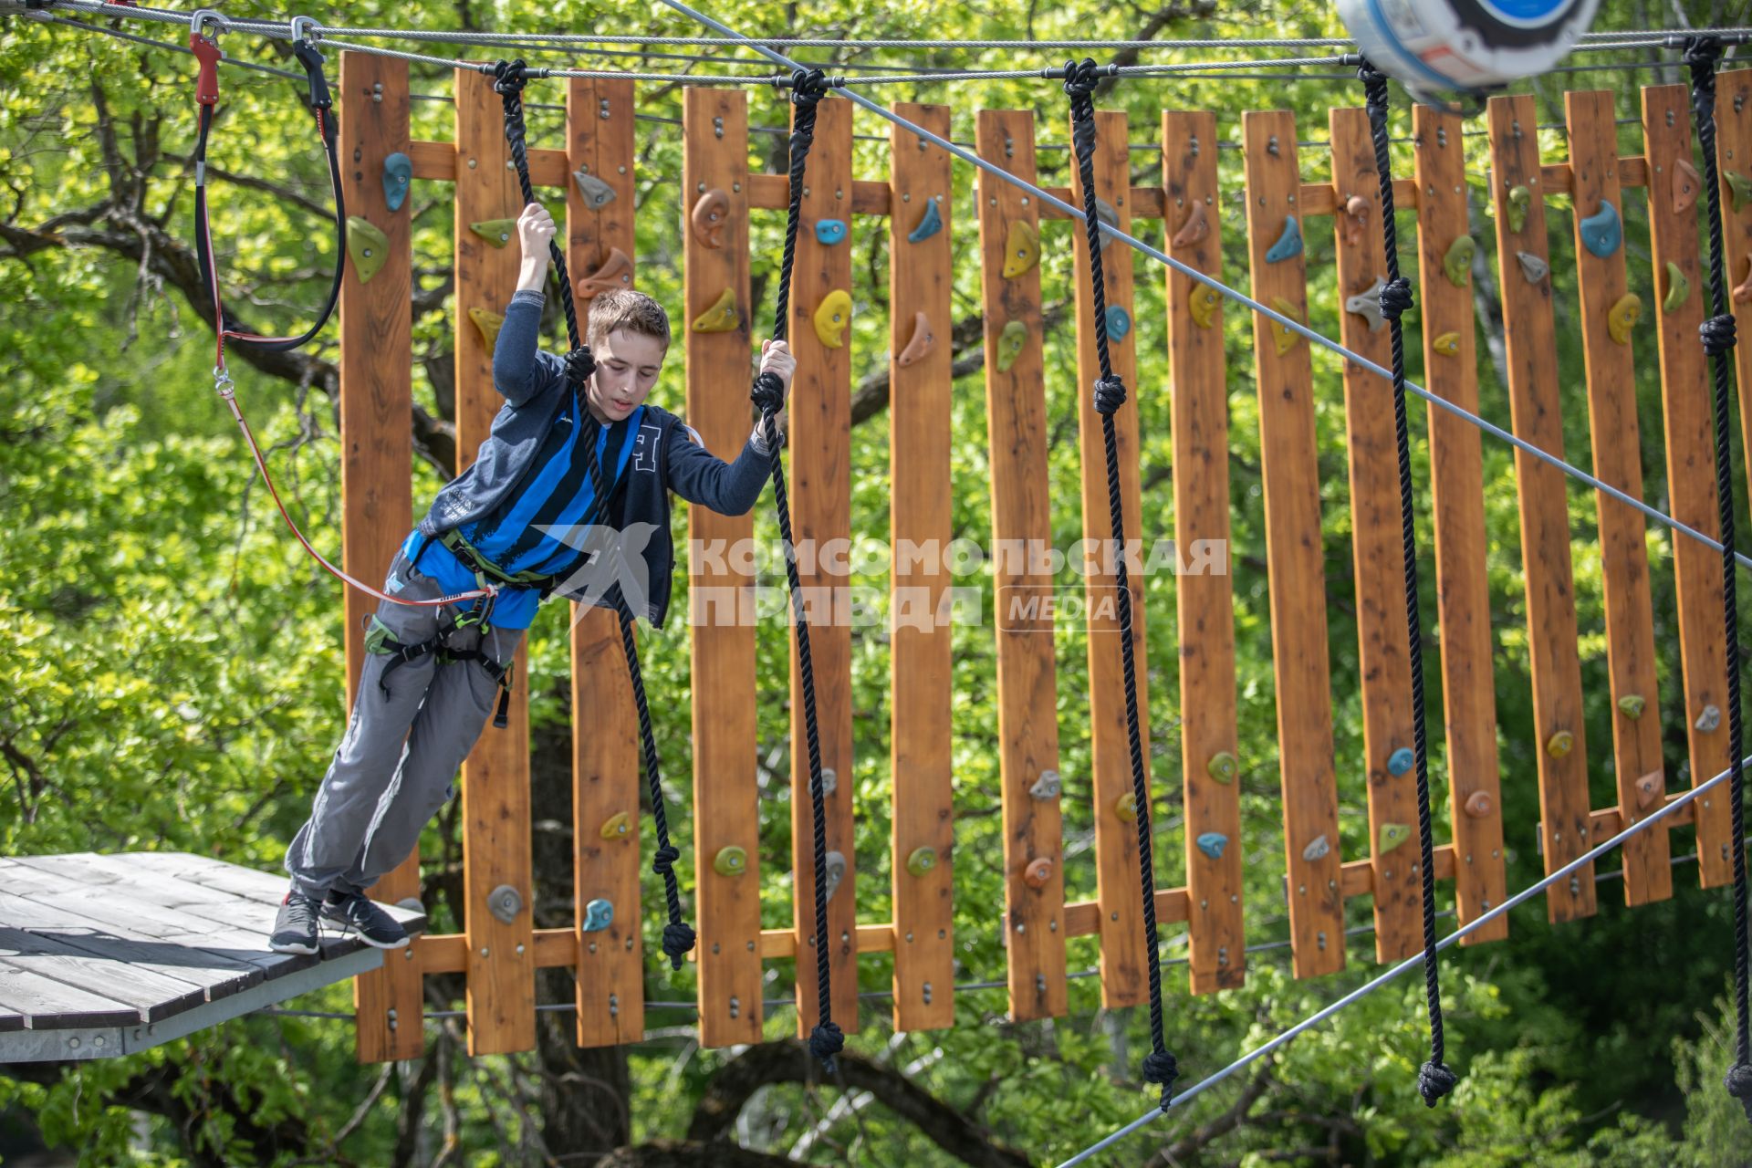
{"label": "leftmost black knotted rope, held by boy's raised hand, passing his chest", "polygon": [[[499,61],[492,67],[492,88],[505,102],[505,142],[512,149],[512,163],[517,166],[517,182],[522,187],[524,207],[536,201],[534,186],[529,182],[529,145],[524,130],[524,86],[529,81],[522,60]],[[596,359],[590,355],[578,333],[578,306],[571,296],[571,277],[566,273],[566,252],[557,240],[548,240],[548,257],[554,261],[554,275],[559,280],[559,303],[566,310],[566,334],[571,340],[571,352],[566,354],[566,378],[578,398],[578,413],[585,422],[594,422],[585,382],[596,371]],[[585,469],[590,475],[590,513],[585,525],[594,525],[608,513],[608,487],[603,482],[603,468],[596,461],[596,434],[590,426],[582,426],[578,443],[583,447]],[[662,930],[662,951],[669,958],[669,967],[682,968],[682,958],[694,947],[694,930],[682,919],[682,891],[675,879],[675,862],[682,853],[669,842],[669,814],[664,807],[662,770],[657,758],[657,737],[652,732],[652,711],[645,699],[645,672],[639,669],[639,648],[632,639],[632,613],[625,597],[615,588],[615,615],[620,618],[620,648],[627,658],[627,676],[632,679],[632,704],[639,713],[639,742],[645,751],[645,777],[652,792],[652,821],[657,827],[657,856],[652,870],[662,877],[664,900],[669,909],[669,923]]]}

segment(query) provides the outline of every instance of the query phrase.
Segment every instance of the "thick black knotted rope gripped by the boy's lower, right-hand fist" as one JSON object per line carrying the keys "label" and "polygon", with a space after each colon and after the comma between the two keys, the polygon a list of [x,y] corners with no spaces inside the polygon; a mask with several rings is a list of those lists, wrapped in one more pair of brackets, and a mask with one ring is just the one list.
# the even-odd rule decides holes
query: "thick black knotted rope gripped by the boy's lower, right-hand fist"
{"label": "thick black knotted rope gripped by the boy's lower, right-hand fist", "polygon": [[[773,310],[773,340],[787,336],[790,319],[790,271],[797,261],[797,226],[802,219],[802,173],[815,144],[815,107],[827,96],[827,77],[818,68],[799,68],[790,77],[790,100],[797,107],[790,128],[790,208],[785,217],[785,257],[778,270],[778,296]],[[748,394],[760,410],[760,438],[767,448],[773,476],[773,506],[785,545],[785,576],[790,585],[792,629],[797,632],[797,678],[802,683],[802,730],[809,748],[809,818],[815,827],[815,998],[820,1021],[809,1031],[809,1052],[834,1073],[834,1056],[846,1047],[846,1037],[834,1023],[832,972],[827,961],[827,797],[822,790],[822,735],[815,718],[815,664],[809,660],[809,623],[804,618],[802,580],[797,576],[790,504],[785,497],[785,461],[778,438],[778,412],[785,405],[785,383],[776,373],[755,376]]]}

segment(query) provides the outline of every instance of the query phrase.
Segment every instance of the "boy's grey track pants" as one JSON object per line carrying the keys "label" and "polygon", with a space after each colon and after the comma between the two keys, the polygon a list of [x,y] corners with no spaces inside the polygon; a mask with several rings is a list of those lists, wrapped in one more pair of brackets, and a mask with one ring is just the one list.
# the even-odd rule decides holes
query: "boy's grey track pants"
{"label": "boy's grey track pants", "polygon": [[[384,592],[420,601],[443,595],[399,552]],[[403,644],[433,639],[454,616],[452,606],[377,606],[377,620]],[[452,634],[450,646],[480,646],[510,665],[522,636],[522,629],[489,627],[482,644],[482,630],[471,627]],[[440,665],[431,653],[396,665],[385,699],[378,681],[394,660],[366,657],[347,735],[286,853],[293,886],[308,897],[321,900],[331,888],[363,893],[408,858],[420,828],[454,793],[457,767],[498,706],[499,685],[480,662]]]}

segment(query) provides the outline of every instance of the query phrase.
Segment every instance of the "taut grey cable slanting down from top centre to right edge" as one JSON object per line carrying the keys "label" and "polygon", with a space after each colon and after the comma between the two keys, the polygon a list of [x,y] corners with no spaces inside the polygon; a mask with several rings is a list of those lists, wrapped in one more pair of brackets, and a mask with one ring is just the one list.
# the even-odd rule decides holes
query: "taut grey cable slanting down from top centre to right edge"
{"label": "taut grey cable slanting down from top centre to right edge", "polygon": [[[706,16],[699,9],[694,9],[694,7],[687,5],[687,4],[683,4],[682,0],[662,0],[662,4],[666,4],[668,7],[671,7],[671,9],[678,11],[678,12],[685,12],[687,16],[694,18],[696,21],[699,21],[701,25],[704,25],[708,28],[717,28],[717,30],[724,32],[729,37],[738,37],[738,40],[741,44],[755,46],[774,65],[785,65],[787,68],[795,68],[795,65],[792,65],[788,58],[785,58],[780,53],[774,53],[774,51],[767,49],[764,42],[759,42],[759,40],[753,40],[750,37],[743,37],[741,33],[732,32],[727,25],[724,25],[724,23],[720,23],[720,21]],[[1055,194],[1051,194],[1048,191],[1042,191],[1041,187],[1034,186],[1027,179],[1018,179],[1016,175],[1009,173],[1007,170],[1004,170],[997,163],[986,161],[986,159],[979,158],[978,154],[972,154],[972,152],[958,147],[957,144],[950,142],[948,138],[943,138],[943,137],[932,133],[930,130],[925,130],[923,126],[920,126],[915,121],[908,121],[906,117],[901,117],[894,110],[890,110],[890,109],[887,109],[883,105],[878,105],[876,102],[865,98],[864,95],[860,95],[860,93],[857,93],[853,89],[841,89],[841,93],[844,95],[844,98],[848,102],[853,102],[855,105],[858,105],[862,109],[867,109],[869,112],[876,114],[883,121],[888,121],[888,123],[892,123],[895,126],[901,126],[902,130],[911,131],[918,138],[923,138],[925,142],[948,151],[953,158],[958,158],[964,163],[967,163],[971,166],[976,166],[976,168],[986,172],[988,175],[992,175],[995,179],[1002,179],[1004,182],[1007,182],[1007,184],[1011,184],[1011,186],[1014,186],[1014,187],[1018,187],[1021,191],[1027,191],[1032,198],[1037,198],[1041,203],[1046,203],[1048,207],[1055,207],[1055,208],[1065,212],[1067,215],[1070,215],[1072,219],[1077,219],[1077,221],[1084,219],[1083,210],[1079,210],[1077,207],[1072,207],[1070,203],[1063,201],[1062,198],[1058,198],[1058,196],[1055,196]],[[1235,301],[1237,305],[1244,305],[1246,308],[1249,308],[1249,310],[1260,313],[1261,317],[1265,317],[1267,320],[1275,320],[1277,324],[1284,326],[1288,331],[1291,331],[1296,336],[1303,338],[1310,345],[1318,345],[1321,348],[1326,348],[1326,350],[1330,350],[1330,352],[1344,357],[1346,361],[1353,361],[1360,368],[1368,369],[1370,373],[1374,373],[1377,376],[1382,376],[1382,378],[1388,378],[1388,380],[1393,378],[1393,373],[1389,369],[1384,369],[1382,366],[1375,364],[1374,361],[1370,361],[1368,357],[1365,357],[1361,354],[1351,352],[1340,341],[1335,341],[1330,336],[1323,336],[1323,334],[1316,333],[1307,324],[1303,324],[1300,320],[1295,320],[1293,317],[1288,317],[1282,312],[1277,312],[1275,308],[1256,301],[1253,296],[1247,296],[1246,292],[1237,291],[1237,289],[1230,287],[1228,284],[1223,284],[1216,277],[1205,275],[1204,271],[1198,271],[1197,268],[1191,268],[1186,263],[1183,263],[1179,259],[1174,259],[1167,252],[1163,252],[1163,250],[1160,250],[1156,247],[1151,247],[1144,240],[1141,240],[1141,238],[1137,238],[1134,235],[1128,235],[1128,233],[1121,231],[1120,228],[1116,228],[1113,224],[1107,224],[1107,222],[1100,224],[1100,229],[1106,231],[1107,235],[1111,235],[1113,238],[1123,242],[1132,250],[1137,250],[1137,252],[1141,252],[1144,256],[1149,256],[1156,263],[1165,264],[1165,266],[1172,268],[1174,271],[1179,271],[1181,275],[1184,275],[1190,280],[1204,284],[1205,287],[1209,287],[1211,291],[1218,292],[1219,296],[1226,296],[1228,299]],[[1409,392],[1409,394],[1412,394],[1416,398],[1421,398],[1424,403],[1428,403],[1430,406],[1433,406],[1437,410],[1444,410],[1444,412],[1447,412],[1447,413],[1451,413],[1451,415],[1454,415],[1454,417],[1468,422],[1470,426],[1477,427],[1479,431],[1489,434],[1491,438],[1496,438],[1498,441],[1503,441],[1503,443],[1514,447],[1515,450],[1526,454],[1528,457],[1538,459],[1540,462],[1551,466],[1556,471],[1561,471],[1561,473],[1568,475],[1570,478],[1577,480],[1579,483],[1593,487],[1600,494],[1622,503],[1624,506],[1631,508],[1633,511],[1636,511],[1636,513],[1640,513],[1640,515],[1643,515],[1643,517],[1647,517],[1647,518],[1650,518],[1650,520],[1654,520],[1654,522],[1657,522],[1657,524],[1661,524],[1661,525],[1664,525],[1664,527],[1668,527],[1668,529],[1671,529],[1671,531],[1685,536],[1687,539],[1696,539],[1698,543],[1701,543],[1706,548],[1712,548],[1715,552],[1722,552],[1722,543],[1719,539],[1703,534],[1701,531],[1698,531],[1696,527],[1691,527],[1689,524],[1682,524],[1680,520],[1673,518],[1671,515],[1649,506],[1642,499],[1638,499],[1638,497],[1635,497],[1635,496],[1631,496],[1631,494],[1628,494],[1628,492],[1614,487],[1612,483],[1608,483],[1608,482],[1605,482],[1605,480],[1601,480],[1601,478],[1598,478],[1594,475],[1589,475],[1582,468],[1579,468],[1579,466],[1575,466],[1572,462],[1565,462],[1558,455],[1549,454],[1547,450],[1542,450],[1540,447],[1526,441],[1524,438],[1505,431],[1501,426],[1496,426],[1494,422],[1489,422],[1489,420],[1479,417],[1477,413],[1472,413],[1470,410],[1456,406],[1454,403],[1447,401],[1445,398],[1442,398],[1438,394],[1431,394],[1428,389],[1417,385],[1416,382],[1407,380],[1405,382],[1405,392]],[[1740,564],[1741,567],[1752,567],[1752,557],[1747,557],[1743,552],[1734,552],[1734,562]]]}

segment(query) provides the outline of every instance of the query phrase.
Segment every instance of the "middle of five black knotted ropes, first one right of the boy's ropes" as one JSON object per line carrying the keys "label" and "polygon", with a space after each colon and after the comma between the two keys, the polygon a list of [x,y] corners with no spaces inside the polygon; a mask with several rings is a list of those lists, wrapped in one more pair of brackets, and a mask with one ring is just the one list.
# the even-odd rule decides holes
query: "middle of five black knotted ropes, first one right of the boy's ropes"
{"label": "middle of five black knotted ropes, first one right of the boy's ropes", "polygon": [[1113,520],[1114,585],[1120,590],[1120,660],[1125,669],[1125,737],[1132,753],[1132,799],[1137,804],[1137,877],[1144,893],[1144,968],[1149,972],[1149,1054],[1144,1080],[1162,1086],[1162,1110],[1174,1101],[1179,1065],[1162,1038],[1162,960],[1156,939],[1156,862],[1149,834],[1149,779],[1144,776],[1144,739],[1137,713],[1137,658],[1132,646],[1132,585],[1125,566],[1125,503],[1120,496],[1120,436],[1113,415],[1125,405],[1125,380],[1107,354],[1107,277],[1102,271],[1100,215],[1095,214],[1095,86],[1102,70],[1093,60],[1065,61],[1065,96],[1070,98],[1070,138],[1083,180],[1083,221],[1088,229],[1090,285],[1095,289],[1095,412],[1107,448],[1107,513]]}

